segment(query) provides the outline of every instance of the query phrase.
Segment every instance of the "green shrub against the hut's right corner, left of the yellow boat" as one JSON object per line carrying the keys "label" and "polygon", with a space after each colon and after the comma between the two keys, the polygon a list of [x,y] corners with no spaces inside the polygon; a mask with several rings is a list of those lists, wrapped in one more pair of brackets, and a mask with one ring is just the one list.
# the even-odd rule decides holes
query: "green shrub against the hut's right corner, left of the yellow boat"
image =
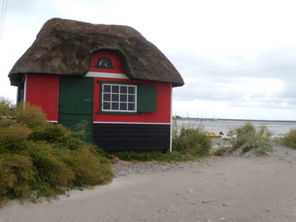
{"label": "green shrub against the hut's right corner, left of the yellow boat", "polygon": [[194,153],[199,156],[209,154],[212,142],[210,137],[205,134],[204,126],[202,124],[194,128],[182,126],[181,129],[179,129],[176,124],[176,120],[174,120],[172,130],[173,151]]}

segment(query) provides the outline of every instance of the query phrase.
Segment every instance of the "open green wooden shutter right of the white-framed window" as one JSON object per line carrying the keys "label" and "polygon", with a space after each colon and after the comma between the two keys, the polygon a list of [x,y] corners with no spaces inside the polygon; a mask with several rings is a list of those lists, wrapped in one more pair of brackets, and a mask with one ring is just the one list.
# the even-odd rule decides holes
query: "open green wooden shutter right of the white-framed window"
{"label": "open green wooden shutter right of the white-framed window", "polygon": [[156,112],[156,86],[138,86],[138,112]]}

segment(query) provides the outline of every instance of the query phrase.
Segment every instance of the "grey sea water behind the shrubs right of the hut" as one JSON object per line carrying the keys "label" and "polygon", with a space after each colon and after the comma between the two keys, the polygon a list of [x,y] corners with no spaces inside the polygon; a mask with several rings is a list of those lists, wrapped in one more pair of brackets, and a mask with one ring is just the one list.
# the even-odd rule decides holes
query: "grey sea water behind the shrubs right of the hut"
{"label": "grey sea water behind the shrubs right of the hut", "polygon": [[[188,120],[177,120],[178,126],[182,125],[189,125]],[[220,131],[224,133],[225,136],[227,136],[227,131],[229,130],[229,127],[237,127],[242,126],[246,123],[246,121],[233,121],[233,120],[227,120],[227,121],[200,121],[200,120],[190,120],[190,124],[192,126],[197,126],[198,124],[203,124],[205,130],[207,132],[214,132],[219,133]],[[296,128],[296,123],[286,123],[286,122],[261,122],[261,121],[251,121],[251,123],[255,126],[261,126],[266,125],[266,127],[274,133],[275,136],[284,134],[289,132],[291,128]],[[224,137],[225,137],[224,136]]]}

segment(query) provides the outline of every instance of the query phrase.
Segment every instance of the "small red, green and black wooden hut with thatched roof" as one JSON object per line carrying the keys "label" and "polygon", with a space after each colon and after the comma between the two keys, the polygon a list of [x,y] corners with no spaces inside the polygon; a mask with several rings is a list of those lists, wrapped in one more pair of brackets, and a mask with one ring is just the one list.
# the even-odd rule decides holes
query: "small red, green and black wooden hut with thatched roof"
{"label": "small red, green and black wooden hut with thatched roof", "polygon": [[171,149],[172,87],[184,81],[129,26],[48,20],[8,76],[18,101],[67,127],[87,120],[86,140],[107,151]]}

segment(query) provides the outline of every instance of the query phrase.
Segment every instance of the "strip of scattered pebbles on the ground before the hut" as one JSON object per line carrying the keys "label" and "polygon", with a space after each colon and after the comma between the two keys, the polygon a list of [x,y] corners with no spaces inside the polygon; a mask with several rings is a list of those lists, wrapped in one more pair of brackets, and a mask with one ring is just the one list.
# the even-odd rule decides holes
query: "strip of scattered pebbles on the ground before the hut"
{"label": "strip of scattered pebbles on the ground before the hut", "polygon": [[158,162],[127,162],[126,165],[113,164],[113,171],[115,176],[125,176],[128,174],[143,174],[143,173],[157,173],[157,172],[170,172],[181,170],[184,168],[203,167],[205,165],[212,165],[218,163],[223,157],[207,157],[193,162],[186,163],[158,163]]}

